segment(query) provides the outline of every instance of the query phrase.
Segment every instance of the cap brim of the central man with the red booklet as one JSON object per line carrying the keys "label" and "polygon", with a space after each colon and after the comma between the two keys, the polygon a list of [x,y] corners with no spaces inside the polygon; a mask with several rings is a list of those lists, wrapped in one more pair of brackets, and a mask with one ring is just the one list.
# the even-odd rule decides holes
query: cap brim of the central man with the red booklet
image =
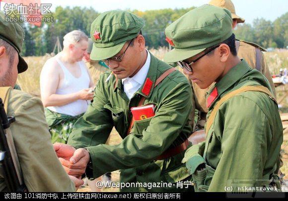
{"label": "cap brim of the central man with the red booklet", "polygon": [[106,48],[98,48],[95,46],[95,43],[94,43],[92,51],[90,53],[90,59],[100,61],[103,59],[108,59],[110,57],[113,57],[118,52],[120,52],[120,50],[122,49],[122,47],[124,46],[125,43],[126,43],[126,41],[124,41],[123,43],[120,43],[118,45],[115,45],[113,47],[106,47]]}

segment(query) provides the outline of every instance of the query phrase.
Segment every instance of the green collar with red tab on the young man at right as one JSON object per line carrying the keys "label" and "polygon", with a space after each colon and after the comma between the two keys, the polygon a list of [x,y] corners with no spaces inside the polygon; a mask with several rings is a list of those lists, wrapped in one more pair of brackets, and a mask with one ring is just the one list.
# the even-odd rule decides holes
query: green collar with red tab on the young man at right
{"label": "green collar with red tab on the young man at right", "polygon": [[[226,92],[231,86],[233,86],[238,80],[240,80],[251,68],[247,64],[244,59],[241,59],[241,62],[231,68],[228,73],[215,84],[215,88],[217,88],[218,96],[216,99],[211,103],[210,107],[216,102],[216,100],[221,97],[221,95]],[[211,93],[215,90],[213,88],[207,98],[211,95]]]}

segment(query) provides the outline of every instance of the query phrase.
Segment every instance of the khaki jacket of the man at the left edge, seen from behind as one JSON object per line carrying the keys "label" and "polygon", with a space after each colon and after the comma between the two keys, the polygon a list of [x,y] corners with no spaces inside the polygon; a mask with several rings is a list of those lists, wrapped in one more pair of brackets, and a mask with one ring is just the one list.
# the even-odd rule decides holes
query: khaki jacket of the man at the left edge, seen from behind
{"label": "khaki jacket of the man at the left edge, seen from behind", "polygon": [[[11,90],[7,115],[15,116],[16,119],[9,129],[28,191],[74,192],[74,184],[58,160],[51,143],[40,99],[19,90]],[[0,191],[5,191],[1,176],[0,187]]]}

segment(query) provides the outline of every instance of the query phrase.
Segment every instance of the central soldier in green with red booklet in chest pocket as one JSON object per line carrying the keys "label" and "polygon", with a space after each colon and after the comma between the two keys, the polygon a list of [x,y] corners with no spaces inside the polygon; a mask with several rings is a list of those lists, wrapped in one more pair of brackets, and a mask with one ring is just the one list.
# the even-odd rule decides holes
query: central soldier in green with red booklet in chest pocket
{"label": "central soldier in green with red booklet in chest pocket", "polygon": [[[191,191],[175,184],[191,179],[181,165],[191,134],[191,87],[182,73],[145,49],[143,26],[142,18],[120,10],[93,21],[91,59],[104,60],[113,73],[100,76],[93,103],[69,137],[73,148],[55,144],[55,149],[72,157],[60,159],[70,175],[82,175],[89,159],[86,175],[91,171],[94,178],[121,169],[120,182],[126,183],[121,191]],[[154,107],[154,114],[141,105]],[[137,106],[140,114],[133,116],[131,107]],[[123,141],[105,145],[113,126]]]}

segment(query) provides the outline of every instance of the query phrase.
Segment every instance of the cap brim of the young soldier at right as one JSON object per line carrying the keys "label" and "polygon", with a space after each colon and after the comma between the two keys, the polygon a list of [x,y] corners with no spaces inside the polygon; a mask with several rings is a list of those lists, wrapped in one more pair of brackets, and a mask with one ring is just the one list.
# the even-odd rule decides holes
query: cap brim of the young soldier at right
{"label": "cap brim of the young soldier at right", "polygon": [[173,50],[165,54],[164,61],[168,63],[183,61],[185,59],[193,57],[194,55],[197,55],[198,53],[202,52],[205,49],[206,48],[198,50],[179,50],[174,48]]}

